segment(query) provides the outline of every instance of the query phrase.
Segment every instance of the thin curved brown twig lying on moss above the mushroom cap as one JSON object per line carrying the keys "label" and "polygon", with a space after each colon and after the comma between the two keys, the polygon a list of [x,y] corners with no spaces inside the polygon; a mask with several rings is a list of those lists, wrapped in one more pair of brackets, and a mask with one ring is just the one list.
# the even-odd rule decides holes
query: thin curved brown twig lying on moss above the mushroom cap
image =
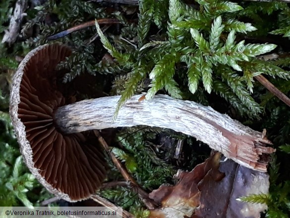
{"label": "thin curved brown twig lying on moss above the mushroom cap", "polygon": [[[117,19],[114,19],[114,18],[105,18],[105,19],[99,19],[97,20],[99,24],[114,24],[114,23],[120,23],[119,20]],[[55,40],[55,39],[58,39],[58,38],[61,38],[61,37],[64,37],[74,31],[77,31],[77,30],[80,30],[80,29],[84,29],[86,27],[89,27],[89,26],[94,26],[95,25],[95,20],[90,20],[88,22],[85,22],[85,23],[81,23],[79,25],[76,25],[74,27],[71,27],[67,30],[64,30],[64,31],[61,31],[55,35],[52,35],[52,36],[49,36],[47,39],[48,40]]]}

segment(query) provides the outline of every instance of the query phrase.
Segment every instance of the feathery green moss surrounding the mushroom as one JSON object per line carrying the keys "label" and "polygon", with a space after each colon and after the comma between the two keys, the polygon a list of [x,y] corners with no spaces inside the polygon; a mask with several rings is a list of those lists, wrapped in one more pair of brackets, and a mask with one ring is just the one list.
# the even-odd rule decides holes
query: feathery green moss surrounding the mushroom
{"label": "feathery green moss surrounding the mushroom", "polygon": [[[1,36],[14,4],[15,0],[0,3]],[[25,56],[29,50],[48,43],[48,36],[94,19],[114,17],[120,24],[107,26],[106,31],[99,25],[87,27],[56,40],[73,49],[73,54],[59,68],[67,69],[63,82],[74,84],[88,74],[96,76],[96,80],[102,79],[93,84],[91,93],[85,93],[89,98],[99,92],[121,94],[114,118],[136,92],[147,92],[146,99],[156,93],[167,93],[174,98],[211,105],[259,131],[266,128],[274,146],[282,145],[283,151],[289,151],[289,108],[254,80],[255,75],[263,73],[284,93],[290,92],[289,57],[284,55],[268,62],[256,58],[274,51],[289,52],[288,4],[196,0],[189,5],[181,0],[139,0],[138,11],[131,12],[131,9],[128,5],[111,7],[86,0],[49,0],[26,11],[22,35],[15,44],[10,47],[0,44],[0,171],[3,172],[0,205],[37,205],[48,198],[47,193],[35,191],[40,185],[19,157],[9,121],[8,87],[10,74],[18,65],[15,56]],[[99,38],[93,40],[97,33]],[[102,60],[106,53],[114,60]],[[84,81],[82,88],[88,85],[88,80]],[[122,131],[127,136],[136,128]],[[172,183],[177,169],[163,160],[158,148],[152,146],[153,139],[161,132],[164,130],[156,128],[137,131],[120,140],[122,149],[115,150],[148,192],[163,183]],[[167,134],[176,137],[172,132]],[[186,136],[178,135],[178,139],[194,145]],[[192,154],[192,165],[203,155]],[[279,151],[277,156],[269,169],[270,194],[250,199],[266,202],[268,217],[289,213],[290,172],[286,167],[290,164],[289,154]],[[110,165],[109,179],[121,178]],[[41,193],[40,196],[32,190]],[[117,187],[101,193],[136,216],[148,214],[136,193],[128,188]]]}

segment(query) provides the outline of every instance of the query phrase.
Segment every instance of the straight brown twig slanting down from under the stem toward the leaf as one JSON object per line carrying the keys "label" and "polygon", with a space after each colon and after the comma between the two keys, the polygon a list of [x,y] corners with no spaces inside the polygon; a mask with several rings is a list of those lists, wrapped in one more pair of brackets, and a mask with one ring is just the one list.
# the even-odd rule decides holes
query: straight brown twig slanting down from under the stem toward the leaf
{"label": "straight brown twig slanting down from under the stem toward the leaf", "polygon": [[152,199],[149,199],[148,193],[145,192],[139,184],[134,180],[134,178],[128,173],[127,169],[123,167],[121,162],[116,158],[113,152],[111,152],[109,145],[106,143],[104,138],[101,136],[98,130],[94,130],[95,135],[98,137],[99,142],[111,156],[113,163],[115,164],[116,168],[120,171],[124,179],[132,186],[134,191],[138,193],[139,198],[145,204],[145,206],[149,210],[154,210],[157,206],[157,203],[154,202]]}

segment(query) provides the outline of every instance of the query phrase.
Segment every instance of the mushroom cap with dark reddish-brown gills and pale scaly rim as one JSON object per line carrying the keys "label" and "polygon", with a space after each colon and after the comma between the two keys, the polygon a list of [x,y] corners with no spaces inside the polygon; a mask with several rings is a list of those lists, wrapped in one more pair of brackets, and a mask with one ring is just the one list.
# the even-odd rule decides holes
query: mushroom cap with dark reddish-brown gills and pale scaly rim
{"label": "mushroom cap with dark reddish-brown gills and pale scaly rim", "polygon": [[67,104],[56,66],[70,54],[66,46],[47,44],[26,55],[13,78],[10,116],[32,174],[53,194],[75,202],[95,193],[107,168],[90,133],[64,135],[54,124],[54,110]]}

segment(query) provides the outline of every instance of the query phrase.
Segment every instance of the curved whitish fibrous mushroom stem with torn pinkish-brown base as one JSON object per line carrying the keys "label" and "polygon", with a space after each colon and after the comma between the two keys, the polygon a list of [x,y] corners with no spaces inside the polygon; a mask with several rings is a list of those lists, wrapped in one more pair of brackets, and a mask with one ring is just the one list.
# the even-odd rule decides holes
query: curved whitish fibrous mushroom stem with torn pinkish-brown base
{"label": "curved whitish fibrous mushroom stem with torn pinkish-brown base", "polygon": [[267,171],[267,155],[275,151],[262,133],[232,120],[225,114],[201,104],[156,95],[139,102],[142,95],[134,95],[120,109],[112,122],[120,96],[83,100],[59,107],[55,123],[60,131],[69,134],[93,129],[146,125],[172,129],[193,136],[222,152],[235,162],[255,170]]}

